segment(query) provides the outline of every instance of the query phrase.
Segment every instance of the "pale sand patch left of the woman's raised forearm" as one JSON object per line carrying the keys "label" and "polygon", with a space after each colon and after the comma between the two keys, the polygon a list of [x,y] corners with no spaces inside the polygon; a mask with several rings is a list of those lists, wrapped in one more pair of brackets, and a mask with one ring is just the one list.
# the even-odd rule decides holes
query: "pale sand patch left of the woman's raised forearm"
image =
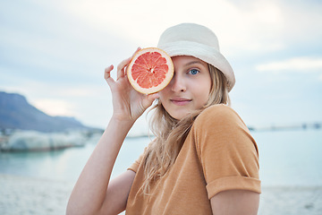
{"label": "pale sand patch left of the woman's raised forearm", "polygon": [[65,214],[72,183],[0,175],[0,214]]}

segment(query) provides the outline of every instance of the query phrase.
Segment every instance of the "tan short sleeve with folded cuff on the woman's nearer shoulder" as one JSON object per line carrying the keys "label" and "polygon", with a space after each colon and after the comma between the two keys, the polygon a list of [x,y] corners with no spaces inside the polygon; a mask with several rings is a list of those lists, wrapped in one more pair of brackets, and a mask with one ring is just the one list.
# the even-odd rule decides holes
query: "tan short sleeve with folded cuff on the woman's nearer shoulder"
{"label": "tan short sleeve with folded cuff on the woman's nearer shoulder", "polygon": [[258,147],[231,107],[205,109],[192,125],[208,198],[225,190],[260,193]]}

